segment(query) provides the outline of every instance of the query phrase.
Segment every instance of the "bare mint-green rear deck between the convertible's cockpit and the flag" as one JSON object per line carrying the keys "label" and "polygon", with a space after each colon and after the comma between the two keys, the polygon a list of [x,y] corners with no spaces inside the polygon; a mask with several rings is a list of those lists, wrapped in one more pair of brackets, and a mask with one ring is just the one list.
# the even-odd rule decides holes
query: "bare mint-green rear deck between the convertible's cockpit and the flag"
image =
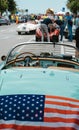
{"label": "bare mint-green rear deck between the convertible's cockpit and the flag", "polygon": [[79,72],[13,68],[0,72],[0,95],[44,94],[79,99]]}

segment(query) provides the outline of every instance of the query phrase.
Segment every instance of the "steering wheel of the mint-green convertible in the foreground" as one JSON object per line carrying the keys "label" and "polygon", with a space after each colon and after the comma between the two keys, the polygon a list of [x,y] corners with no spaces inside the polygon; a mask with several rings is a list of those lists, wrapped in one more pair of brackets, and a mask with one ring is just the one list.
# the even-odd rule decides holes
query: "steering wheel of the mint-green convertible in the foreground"
{"label": "steering wheel of the mint-green convertible in the foreground", "polygon": [[[27,54],[27,56],[21,57],[21,55],[25,55],[25,54]],[[22,58],[22,60],[24,61],[24,65],[23,66],[29,66],[29,63],[32,61],[32,56],[36,57],[36,55],[31,53],[31,52],[20,53],[14,59],[14,63],[18,62],[18,59]]]}

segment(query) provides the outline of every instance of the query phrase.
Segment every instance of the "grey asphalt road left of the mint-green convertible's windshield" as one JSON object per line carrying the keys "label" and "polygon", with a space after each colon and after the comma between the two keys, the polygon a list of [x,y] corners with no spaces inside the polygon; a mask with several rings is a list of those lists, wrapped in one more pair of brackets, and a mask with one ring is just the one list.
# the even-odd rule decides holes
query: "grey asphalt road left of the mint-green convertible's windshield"
{"label": "grey asphalt road left of the mint-green convertible's windshield", "polygon": [[18,35],[17,26],[15,23],[0,26],[0,57],[6,55],[15,44],[34,39],[34,35]]}

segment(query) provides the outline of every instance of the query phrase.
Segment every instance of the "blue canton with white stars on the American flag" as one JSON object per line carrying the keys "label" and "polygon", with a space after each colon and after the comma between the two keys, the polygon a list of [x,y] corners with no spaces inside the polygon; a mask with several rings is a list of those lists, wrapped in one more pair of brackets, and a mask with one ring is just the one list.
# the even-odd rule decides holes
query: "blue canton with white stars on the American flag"
{"label": "blue canton with white stars on the American flag", "polygon": [[17,119],[17,121],[42,121],[44,98],[45,96],[41,97],[41,95],[25,94],[1,96],[0,118],[6,121],[13,119]]}

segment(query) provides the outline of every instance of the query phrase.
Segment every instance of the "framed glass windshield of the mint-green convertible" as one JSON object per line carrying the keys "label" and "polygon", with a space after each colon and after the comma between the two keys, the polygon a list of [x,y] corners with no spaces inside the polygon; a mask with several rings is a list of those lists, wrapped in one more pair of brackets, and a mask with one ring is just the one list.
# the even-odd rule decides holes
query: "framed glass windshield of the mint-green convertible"
{"label": "framed glass windshield of the mint-green convertible", "polygon": [[[34,42],[34,43],[21,43],[14,46],[9,52],[6,63],[10,62],[10,60],[15,59],[18,55],[20,58],[29,54],[32,56],[40,57],[43,54],[46,56],[53,56],[62,58],[63,56],[72,57],[72,60],[78,61],[76,57],[76,53],[78,49],[75,46],[66,45],[62,43],[48,43],[48,42]],[[43,55],[44,56],[44,55]]]}

